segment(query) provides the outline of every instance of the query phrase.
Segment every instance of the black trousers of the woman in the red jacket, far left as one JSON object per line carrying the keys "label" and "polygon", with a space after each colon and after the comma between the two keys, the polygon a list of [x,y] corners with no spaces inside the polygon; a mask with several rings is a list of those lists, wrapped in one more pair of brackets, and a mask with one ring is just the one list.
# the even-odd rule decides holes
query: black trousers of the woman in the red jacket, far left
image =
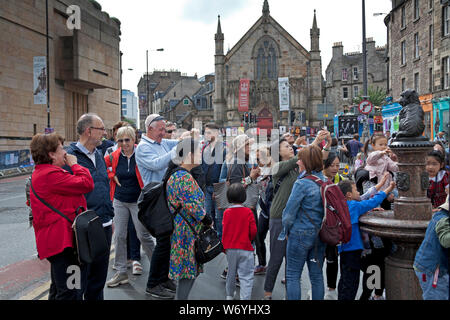
{"label": "black trousers of the woman in the red jacket, far left", "polygon": [[70,266],[79,267],[74,249],[66,248],[63,252],[48,257],[47,260],[50,262],[51,278],[48,300],[81,300],[81,288],[69,289],[67,286],[67,280],[72,275],[67,273],[67,269]]}

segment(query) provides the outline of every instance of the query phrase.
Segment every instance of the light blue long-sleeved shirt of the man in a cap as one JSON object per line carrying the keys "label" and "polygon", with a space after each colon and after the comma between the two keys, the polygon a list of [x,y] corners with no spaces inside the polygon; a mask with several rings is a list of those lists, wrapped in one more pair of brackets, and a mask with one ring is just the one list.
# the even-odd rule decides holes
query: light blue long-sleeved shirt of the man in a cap
{"label": "light blue long-sleeved shirt of the man in a cap", "polygon": [[178,140],[163,139],[161,143],[142,136],[136,148],[136,164],[144,186],[160,182],[164,178],[169,162],[176,157]]}

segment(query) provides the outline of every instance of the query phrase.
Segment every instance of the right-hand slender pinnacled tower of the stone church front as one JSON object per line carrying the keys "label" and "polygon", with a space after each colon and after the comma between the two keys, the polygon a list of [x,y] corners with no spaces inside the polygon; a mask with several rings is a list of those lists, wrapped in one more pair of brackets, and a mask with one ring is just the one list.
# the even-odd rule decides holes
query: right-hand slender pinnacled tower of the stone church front
{"label": "right-hand slender pinnacled tower of the stone church front", "polygon": [[320,56],[320,29],[317,27],[316,10],[314,10],[313,26],[310,31],[311,34],[311,60],[309,63],[309,114],[307,119],[311,126],[314,119],[317,119],[317,105],[322,103],[322,58]]}

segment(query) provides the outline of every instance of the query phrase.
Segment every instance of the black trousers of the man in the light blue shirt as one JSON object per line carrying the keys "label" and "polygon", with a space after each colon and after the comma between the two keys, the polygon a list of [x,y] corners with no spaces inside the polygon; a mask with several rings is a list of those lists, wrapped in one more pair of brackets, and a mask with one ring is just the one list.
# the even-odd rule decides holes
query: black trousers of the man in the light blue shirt
{"label": "black trousers of the man in the light blue shirt", "polygon": [[147,288],[151,289],[169,280],[170,235],[156,238],[148,275]]}

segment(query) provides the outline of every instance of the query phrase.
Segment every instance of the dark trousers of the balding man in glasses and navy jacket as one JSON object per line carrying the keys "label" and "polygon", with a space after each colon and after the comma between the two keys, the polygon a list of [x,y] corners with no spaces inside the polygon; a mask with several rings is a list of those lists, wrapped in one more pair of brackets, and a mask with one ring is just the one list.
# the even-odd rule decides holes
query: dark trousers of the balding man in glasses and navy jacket
{"label": "dark trousers of the balding man in glasses and navy jacket", "polygon": [[[105,227],[108,246],[111,247],[112,227]],[[84,300],[104,300],[103,288],[105,287],[106,278],[108,276],[109,266],[109,250],[102,257],[97,258],[94,262],[81,266],[81,289]]]}

